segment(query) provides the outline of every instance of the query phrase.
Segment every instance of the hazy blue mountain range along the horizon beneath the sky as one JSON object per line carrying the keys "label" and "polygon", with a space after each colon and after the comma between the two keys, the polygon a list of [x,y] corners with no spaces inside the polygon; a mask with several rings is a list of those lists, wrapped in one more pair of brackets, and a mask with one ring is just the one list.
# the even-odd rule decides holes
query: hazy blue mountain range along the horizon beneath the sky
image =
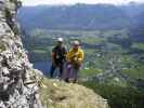
{"label": "hazy blue mountain range along the horizon beneath the sky", "polygon": [[143,9],[144,4],[24,6],[18,12],[18,19],[28,29],[121,29],[130,27]]}

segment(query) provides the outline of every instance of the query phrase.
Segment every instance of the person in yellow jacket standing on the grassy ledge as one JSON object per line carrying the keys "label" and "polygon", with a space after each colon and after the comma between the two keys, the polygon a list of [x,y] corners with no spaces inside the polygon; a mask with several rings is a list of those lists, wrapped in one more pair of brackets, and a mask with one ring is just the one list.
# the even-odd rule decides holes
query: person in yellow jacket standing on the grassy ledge
{"label": "person in yellow jacket standing on the grassy ledge", "polygon": [[[73,78],[73,82],[77,82],[78,78],[78,71],[82,65],[83,62],[83,51],[80,48],[79,41],[74,41],[71,50],[67,53],[66,59],[67,59],[67,71],[66,71],[66,78],[65,81],[69,82],[69,79]],[[71,73],[70,73],[71,72]]]}

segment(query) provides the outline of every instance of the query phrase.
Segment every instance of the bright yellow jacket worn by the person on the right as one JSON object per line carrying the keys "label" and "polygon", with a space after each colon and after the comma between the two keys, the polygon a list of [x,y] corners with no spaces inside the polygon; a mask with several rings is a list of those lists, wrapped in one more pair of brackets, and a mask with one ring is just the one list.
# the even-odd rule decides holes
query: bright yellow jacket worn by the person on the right
{"label": "bright yellow jacket worn by the person on the right", "polygon": [[81,63],[83,60],[84,54],[83,54],[83,51],[80,48],[78,50],[71,49],[67,53],[66,57],[67,57],[67,60],[69,63],[73,63],[73,62]]}

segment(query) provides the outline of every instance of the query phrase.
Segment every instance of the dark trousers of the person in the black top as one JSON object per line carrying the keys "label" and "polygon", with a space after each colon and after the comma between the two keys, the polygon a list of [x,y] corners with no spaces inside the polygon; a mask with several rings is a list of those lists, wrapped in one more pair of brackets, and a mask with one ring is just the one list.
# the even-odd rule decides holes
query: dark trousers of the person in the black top
{"label": "dark trousers of the person in the black top", "polygon": [[51,71],[50,71],[50,77],[51,78],[54,78],[54,71],[55,69],[58,68],[60,69],[60,75],[58,77],[62,78],[62,75],[63,75],[63,64],[60,64],[60,65],[53,65],[51,66]]}

